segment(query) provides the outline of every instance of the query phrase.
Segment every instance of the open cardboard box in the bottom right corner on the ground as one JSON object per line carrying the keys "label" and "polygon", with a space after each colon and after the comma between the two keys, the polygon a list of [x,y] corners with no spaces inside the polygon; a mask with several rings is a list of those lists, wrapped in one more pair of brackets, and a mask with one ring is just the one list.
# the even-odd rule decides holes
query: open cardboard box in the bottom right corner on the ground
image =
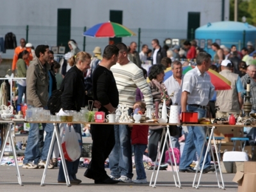
{"label": "open cardboard box in the bottom right corner on the ground", "polygon": [[256,192],[256,162],[244,162],[244,172],[237,172],[233,181],[238,183],[238,192]]}

